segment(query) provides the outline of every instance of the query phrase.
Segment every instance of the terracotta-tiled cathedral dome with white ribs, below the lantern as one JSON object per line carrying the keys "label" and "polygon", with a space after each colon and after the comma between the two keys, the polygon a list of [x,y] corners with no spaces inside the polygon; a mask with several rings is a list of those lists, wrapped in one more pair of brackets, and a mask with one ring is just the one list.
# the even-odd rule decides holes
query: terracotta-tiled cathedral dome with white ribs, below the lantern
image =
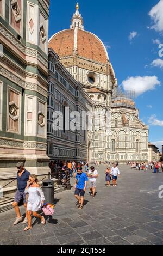
{"label": "terracotta-tiled cathedral dome with white ribs, below the lantern", "polygon": [[94,60],[99,63],[107,63],[108,52],[103,42],[91,32],[81,28],[71,28],[54,34],[49,40],[49,48],[52,48],[59,57],[73,56],[74,50],[80,57]]}

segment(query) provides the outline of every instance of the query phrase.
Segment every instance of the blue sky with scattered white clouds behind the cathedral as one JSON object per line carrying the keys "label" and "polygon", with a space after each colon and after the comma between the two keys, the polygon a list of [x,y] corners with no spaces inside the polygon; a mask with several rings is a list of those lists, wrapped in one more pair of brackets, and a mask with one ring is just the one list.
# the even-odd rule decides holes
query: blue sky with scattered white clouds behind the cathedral
{"label": "blue sky with scattered white clouds behind the cathedral", "polygon": [[[49,38],[70,28],[77,1],[51,1]],[[149,141],[163,144],[163,0],[79,0],[84,29],[105,44],[118,85],[135,89]],[[163,45],[162,45],[163,48]],[[163,53],[163,51],[162,51]],[[162,54],[163,55],[163,54]]]}

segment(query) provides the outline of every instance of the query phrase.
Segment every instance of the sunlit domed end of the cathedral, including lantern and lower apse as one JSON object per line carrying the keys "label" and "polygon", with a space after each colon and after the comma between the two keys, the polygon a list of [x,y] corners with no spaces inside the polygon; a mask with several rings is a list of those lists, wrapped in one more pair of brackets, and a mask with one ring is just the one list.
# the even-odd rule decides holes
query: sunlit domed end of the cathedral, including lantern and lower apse
{"label": "sunlit domed end of the cathedral, including lantern and lower apse", "polygon": [[98,36],[85,31],[78,4],[70,29],[54,34],[48,47],[92,102],[87,160],[148,161],[148,126],[139,119],[132,97],[118,93],[108,52]]}

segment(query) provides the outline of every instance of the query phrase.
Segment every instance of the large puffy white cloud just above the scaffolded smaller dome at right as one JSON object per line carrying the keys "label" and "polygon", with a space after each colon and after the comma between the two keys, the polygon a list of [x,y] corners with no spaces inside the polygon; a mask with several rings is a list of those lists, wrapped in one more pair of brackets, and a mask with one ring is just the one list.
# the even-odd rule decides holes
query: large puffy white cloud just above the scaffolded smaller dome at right
{"label": "large puffy white cloud just above the scaffolded smaller dome at right", "polygon": [[148,90],[154,90],[161,83],[156,76],[131,76],[122,81],[124,90],[134,90],[135,95],[139,96]]}

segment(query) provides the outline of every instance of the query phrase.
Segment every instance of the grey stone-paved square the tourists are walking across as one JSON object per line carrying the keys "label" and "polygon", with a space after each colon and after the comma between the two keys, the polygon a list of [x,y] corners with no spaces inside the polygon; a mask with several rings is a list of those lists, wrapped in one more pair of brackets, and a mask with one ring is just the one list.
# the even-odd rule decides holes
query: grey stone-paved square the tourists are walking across
{"label": "grey stone-paved square the tourists are walking across", "polygon": [[87,189],[82,210],[72,188],[55,195],[55,214],[45,225],[33,217],[32,230],[13,225],[14,210],[0,214],[0,245],[163,245],[163,174],[121,166],[113,188],[105,186],[104,171],[101,165],[96,197]]}

